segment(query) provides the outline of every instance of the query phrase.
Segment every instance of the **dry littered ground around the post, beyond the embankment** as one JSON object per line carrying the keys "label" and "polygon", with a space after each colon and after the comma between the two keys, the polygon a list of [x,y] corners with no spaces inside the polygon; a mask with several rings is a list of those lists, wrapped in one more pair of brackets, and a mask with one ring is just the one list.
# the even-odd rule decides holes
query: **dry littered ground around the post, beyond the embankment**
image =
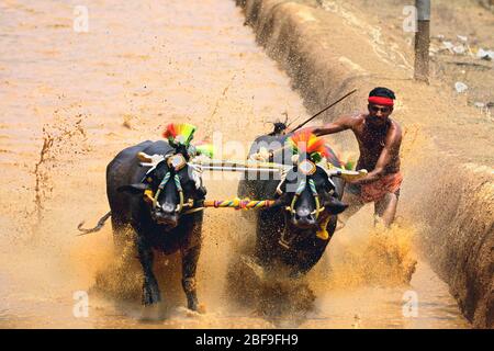
{"label": "dry littered ground around the post, beyond the embankment", "polygon": [[[379,5],[370,0],[317,3],[326,11],[345,14],[349,24],[360,21],[371,29],[367,33],[370,41],[384,44],[390,54],[398,53],[395,57],[401,64],[413,64],[415,33],[409,29],[409,1],[381,0]],[[436,0],[431,2],[430,16],[430,78],[442,81],[445,91],[452,94],[457,94],[456,82],[465,83],[468,88],[460,94],[492,121],[494,61],[481,58],[481,49],[494,47],[494,13],[473,0]]]}

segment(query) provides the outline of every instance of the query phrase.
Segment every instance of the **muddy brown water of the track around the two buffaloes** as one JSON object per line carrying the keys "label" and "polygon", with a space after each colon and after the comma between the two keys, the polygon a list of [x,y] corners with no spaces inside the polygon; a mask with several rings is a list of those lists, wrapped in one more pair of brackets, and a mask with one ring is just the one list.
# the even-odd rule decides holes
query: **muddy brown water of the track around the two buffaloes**
{"label": "muddy brown water of the track around the two buffaloes", "polygon": [[[243,26],[233,1],[90,1],[87,33],[74,31],[78,4],[0,4],[0,326],[291,326],[290,320],[274,324],[252,314],[254,306],[231,303],[227,263],[254,228],[226,210],[205,216],[198,272],[205,315],[181,307],[177,274],[161,282],[167,318],[156,322],[141,321],[138,302],[115,302],[94,290],[98,276],[115,271],[111,230],[76,237],[76,227],[81,219],[92,224],[108,211],[104,168],[120,149],[158,138],[170,121],[194,123],[200,127],[197,138],[220,132],[224,140],[246,145],[269,129],[268,122],[306,112],[289,79]],[[206,185],[211,199],[236,191],[235,177],[209,179]],[[296,325],[469,327],[447,286],[425,262],[418,263],[409,285],[382,276],[378,284],[368,282],[373,268],[382,267],[382,254],[366,248],[383,247],[370,218],[367,208],[338,231],[307,276],[317,296],[315,308]],[[398,253],[417,256],[408,247],[417,230],[403,224],[394,233],[407,238],[405,245],[391,245]],[[380,238],[378,245],[374,238]],[[162,258],[160,264],[172,270],[176,258]],[[131,271],[122,274],[131,285],[139,285]],[[85,293],[87,316],[77,304]],[[403,301],[411,294],[418,302],[417,314],[404,313]]]}

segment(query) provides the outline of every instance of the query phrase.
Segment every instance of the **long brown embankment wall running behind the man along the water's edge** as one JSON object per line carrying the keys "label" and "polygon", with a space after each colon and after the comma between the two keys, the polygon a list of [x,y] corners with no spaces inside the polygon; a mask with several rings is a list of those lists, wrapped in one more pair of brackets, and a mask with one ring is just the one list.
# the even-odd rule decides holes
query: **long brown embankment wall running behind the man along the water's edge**
{"label": "long brown embankment wall running behind the man along the water's edge", "polygon": [[[405,132],[411,132],[405,133],[402,147],[405,149],[405,183],[401,206],[406,215],[425,224],[418,238],[424,254],[449,284],[464,316],[474,327],[492,328],[493,169],[457,162],[451,152],[448,156],[439,149],[441,143],[435,140],[434,126],[428,125],[427,120],[417,126],[414,120],[431,113],[430,106],[416,103],[417,97],[436,101],[436,124],[448,123],[451,102],[438,101],[431,87],[412,81],[408,67],[393,65],[379,43],[369,41],[362,33],[364,25],[349,14],[341,18],[324,11],[312,5],[315,1],[236,2],[243,8],[246,24],[252,26],[259,44],[288,72],[310,111],[324,107],[353,88],[359,89],[324,121],[363,111],[367,93],[375,86],[390,86],[398,93],[395,115],[405,125]],[[413,131],[419,131],[418,136]],[[352,138],[338,141],[355,148]]]}

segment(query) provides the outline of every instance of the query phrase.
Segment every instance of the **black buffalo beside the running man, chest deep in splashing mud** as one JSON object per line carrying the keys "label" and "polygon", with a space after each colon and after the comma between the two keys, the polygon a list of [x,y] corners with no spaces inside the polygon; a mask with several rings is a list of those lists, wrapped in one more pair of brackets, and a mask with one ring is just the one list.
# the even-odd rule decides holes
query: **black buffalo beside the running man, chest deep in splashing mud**
{"label": "black buffalo beside the running man, chest deep in splashing mud", "polygon": [[[284,145],[289,136],[276,133],[260,136],[254,141],[249,156],[259,152],[260,147],[267,147],[269,151],[273,151],[277,147],[272,145]],[[347,206],[340,202],[344,189],[341,179],[332,179],[318,166],[315,173],[303,176],[291,157],[291,151],[274,152],[276,162],[293,165],[281,184],[280,179],[274,177],[259,180],[252,179],[254,176],[259,174],[249,173],[239,182],[238,195],[250,199],[278,197],[277,203],[282,204],[281,206],[261,210],[257,214],[254,254],[263,269],[269,271],[281,265],[288,267],[289,275],[294,278],[310,271],[321,259],[335,231],[337,214]],[[300,155],[297,163],[307,158],[307,155]],[[273,161],[272,158],[270,160]],[[341,167],[337,158],[330,161],[334,166]],[[305,188],[293,203],[295,189],[303,179],[305,179]],[[324,206],[324,211],[318,216],[315,214],[316,200],[314,189],[311,190],[308,184],[310,179],[317,191],[321,207]],[[277,193],[277,189],[278,192],[281,191],[281,194]],[[326,239],[321,238],[322,229],[327,230]]]}

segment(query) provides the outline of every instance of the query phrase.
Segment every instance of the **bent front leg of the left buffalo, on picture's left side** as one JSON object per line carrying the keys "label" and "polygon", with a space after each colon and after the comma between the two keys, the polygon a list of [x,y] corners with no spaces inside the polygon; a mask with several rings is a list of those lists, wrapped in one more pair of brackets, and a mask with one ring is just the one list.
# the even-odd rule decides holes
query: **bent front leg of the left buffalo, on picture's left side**
{"label": "bent front leg of the left buffalo, on picture's left side", "polygon": [[137,251],[139,256],[139,262],[143,267],[144,283],[143,283],[143,304],[151,305],[161,299],[159,293],[158,281],[153,273],[153,249],[149,244],[143,237],[137,238]]}

